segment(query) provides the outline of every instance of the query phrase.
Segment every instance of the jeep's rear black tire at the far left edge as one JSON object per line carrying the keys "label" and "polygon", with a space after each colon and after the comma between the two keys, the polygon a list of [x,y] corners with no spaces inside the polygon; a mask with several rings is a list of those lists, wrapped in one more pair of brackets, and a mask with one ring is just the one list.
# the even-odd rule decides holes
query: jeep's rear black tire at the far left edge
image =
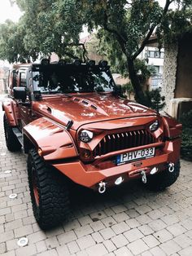
{"label": "jeep's rear black tire at the far left edge", "polygon": [[17,139],[16,135],[14,134],[11,126],[9,125],[9,122],[7,121],[7,117],[5,114],[3,117],[3,124],[4,124],[5,138],[6,138],[6,144],[7,144],[8,150],[11,152],[20,151],[21,144]]}

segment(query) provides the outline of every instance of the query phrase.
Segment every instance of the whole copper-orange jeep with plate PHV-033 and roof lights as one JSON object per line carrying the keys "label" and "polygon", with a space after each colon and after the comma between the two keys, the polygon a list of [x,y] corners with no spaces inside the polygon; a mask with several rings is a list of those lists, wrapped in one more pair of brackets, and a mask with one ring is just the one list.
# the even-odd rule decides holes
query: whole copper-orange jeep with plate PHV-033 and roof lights
{"label": "whole copper-orange jeep with plate PHV-033 and roof lights", "polygon": [[67,216],[68,180],[104,193],[130,179],[161,190],[179,175],[181,124],[120,97],[106,61],[15,65],[2,108],[7,148],[28,153],[43,229]]}

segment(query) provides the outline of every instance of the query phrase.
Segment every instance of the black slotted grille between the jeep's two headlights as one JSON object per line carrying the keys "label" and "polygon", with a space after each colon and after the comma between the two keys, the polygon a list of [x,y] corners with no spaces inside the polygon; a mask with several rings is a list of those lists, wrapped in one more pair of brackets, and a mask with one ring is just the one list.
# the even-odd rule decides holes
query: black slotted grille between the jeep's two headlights
{"label": "black slotted grille between the jeep's two headlights", "polygon": [[112,135],[106,135],[94,148],[94,157],[109,152],[134,148],[155,143],[156,139],[147,130],[132,130]]}

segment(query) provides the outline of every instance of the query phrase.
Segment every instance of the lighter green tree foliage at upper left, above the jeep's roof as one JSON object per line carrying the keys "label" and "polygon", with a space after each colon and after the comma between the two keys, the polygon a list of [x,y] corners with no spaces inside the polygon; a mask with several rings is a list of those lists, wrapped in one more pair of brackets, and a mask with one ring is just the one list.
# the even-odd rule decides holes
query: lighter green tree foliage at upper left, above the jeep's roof
{"label": "lighter green tree foliage at upper left, above the jeep's roof", "polygon": [[[75,58],[79,44],[81,12],[75,1],[17,0],[24,15],[18,24],[0,26],[0,58],[10,62],[37,59],[39,54]],[[76,14],[76,15],[72,15]],[[11,49],[13,49],[11,51]]]}

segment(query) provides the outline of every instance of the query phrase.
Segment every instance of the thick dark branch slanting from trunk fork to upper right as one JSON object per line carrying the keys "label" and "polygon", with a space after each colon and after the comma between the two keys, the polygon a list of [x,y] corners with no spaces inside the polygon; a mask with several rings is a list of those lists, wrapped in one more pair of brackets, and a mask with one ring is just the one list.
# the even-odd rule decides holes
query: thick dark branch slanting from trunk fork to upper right
{"label": "thick dark branch slanting from trunk fork to upper right", "polygon": [[[165,15],[167,14],[167,12],[168,12],[168,7],[170,6],[170,4],[171,4],[173,1],[174,1],[174,0],[166,0],[165,6],[164,6],[164,11],[163,11],[162,16],[161,16],[160,19],[159,19],[159,22],[164,19],[164,16],[165,16]],[[141,45],[141,46],[138,48],[138,50],[133,54],[133,56],[132,56],[132,59],[133,59],[133,60],[136,59],[136,58],[137,58],[137,55],[140,55],[140,53],[143,51],[143,49],[144,49],[145,46],[146,46],[146,43],[147,43],[147,42],[149,41],[149,39],[151,38],[151,35],[152,35],[152,33],[153,33],[155,27],[156,27],[155,24],[151,26],[151,29],[149,30],[149,32],[148,32],[147,35],[146,35],[146,38],[142,41],[142,45]]]}

